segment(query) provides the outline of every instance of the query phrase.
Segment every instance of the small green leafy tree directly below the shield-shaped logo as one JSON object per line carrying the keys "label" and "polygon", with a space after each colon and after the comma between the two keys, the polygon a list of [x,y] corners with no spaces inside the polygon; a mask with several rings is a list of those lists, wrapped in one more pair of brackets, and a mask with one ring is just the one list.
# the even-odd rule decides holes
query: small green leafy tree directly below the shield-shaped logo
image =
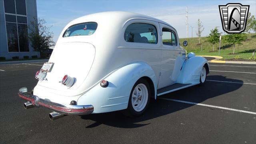
{"label": "small green leafy tree directly below the shield-shaped logo", "polygon": [[234,45],[234,48],[233,48],[233,54],[234,54],[235,53],[235,45],[236,44],[241,45],[242,41],[245,41],[246,38],[247,38],[247,34],[245,34],[245,33],[227,34],[226,36],[224,36],[224,41]]}

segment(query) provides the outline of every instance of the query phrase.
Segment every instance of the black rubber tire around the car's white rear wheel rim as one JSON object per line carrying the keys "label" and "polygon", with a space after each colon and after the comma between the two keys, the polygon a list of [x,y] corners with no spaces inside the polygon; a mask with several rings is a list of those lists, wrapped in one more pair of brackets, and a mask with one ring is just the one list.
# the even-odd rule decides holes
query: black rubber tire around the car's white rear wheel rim
{"label": "black rubber tire around the car's white rear wheel rim", "polygon": [[[136,110],[134,110],[133,106],[132,106],[132,93],[134,91],[134,88],[138,85],[138,84],[144,84],[146,86],[146,88],[148,89],[148,100],[147,100],[147,104],[144,107],[143,110],[141,110],[140,112],[137,112]],[[150,102],[150,97],[151,97],[151,93],[150,93],[150,85],[148,84],[147,80],[145,80],[144,78],[139,79],[134,86],[132,87],[132,91],[130,93],[130,97],[129,97],[129,102],[128,102],[128,107],[126,110],[123,110],[122,113],[126,116],[129,117],[136,117],[136,116],[141,116],[145,110],[147,109],[149,102]]]}

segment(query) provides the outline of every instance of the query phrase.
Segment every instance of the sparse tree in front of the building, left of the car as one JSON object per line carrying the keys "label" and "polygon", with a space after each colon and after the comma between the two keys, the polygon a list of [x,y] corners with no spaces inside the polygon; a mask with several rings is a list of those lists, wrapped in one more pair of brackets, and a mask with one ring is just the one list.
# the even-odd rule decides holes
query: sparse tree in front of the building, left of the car
{"label": "sparse tree in front of the building, left of the car", "polygon": [[46,26],[46,21],[44,19],[38,18],[38,20],[36,20],[34,18],[34,21],[30,22],[29,29],[31,32],[29,34],[29,40],[31,46],[39,55],[40,52],[43,52],[55,44],[52,40],[53,33],[49,32],[50,28],[51,26]]}

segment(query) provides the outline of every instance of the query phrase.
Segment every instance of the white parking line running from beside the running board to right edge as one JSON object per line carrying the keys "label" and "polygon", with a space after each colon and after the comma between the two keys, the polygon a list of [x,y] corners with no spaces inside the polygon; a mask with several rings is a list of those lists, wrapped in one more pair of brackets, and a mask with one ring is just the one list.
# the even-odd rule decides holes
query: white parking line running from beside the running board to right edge
{"label": "white parking line running from beside the running board to right edge", "polygon": [[199,104],[199,103],[195,103],[195,102],[187,102],[187,101],[183,101],[183,100],[174,100],[174,99],[170,99],[170,98],[159,98],[162,100],[169,100],[169,101],[174,101],[174,102],[182,102],[182,103],[186,103],[186,104],[194,104],[194,105],[198,105],[198,106],[207,106],[207,107],[212,107],[212,108],[220,108],[220,109],[224,109],[224,110],[232,110],[232,111],[236,111],[236,112],[244,112],[244,113],[248,113],[248,114],[256,114],[256,112],[249,112],[249,111],[245,111],[245,110],[237,110],[234,108],[225,108],[222,106],[212,106],[212,105],[208,105],[208,104]]}

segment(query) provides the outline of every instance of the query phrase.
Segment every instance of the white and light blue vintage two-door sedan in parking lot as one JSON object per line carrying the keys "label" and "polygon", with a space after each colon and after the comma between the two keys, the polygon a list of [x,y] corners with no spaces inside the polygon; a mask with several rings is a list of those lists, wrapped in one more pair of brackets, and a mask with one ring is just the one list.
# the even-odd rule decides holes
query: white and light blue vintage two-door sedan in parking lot
{"label": "white and light blue vintage two-door sedan in parking lot", "polygon": [[18,95],[28,101],[26,109],[53,111],[51,120],[116,110],[140,116],[150,97],[204,84],[208,73],[207,60],[186,56],[170,24],[130,12],[101,12],[67,24],[36,73],[34,90],[20,88]]}

